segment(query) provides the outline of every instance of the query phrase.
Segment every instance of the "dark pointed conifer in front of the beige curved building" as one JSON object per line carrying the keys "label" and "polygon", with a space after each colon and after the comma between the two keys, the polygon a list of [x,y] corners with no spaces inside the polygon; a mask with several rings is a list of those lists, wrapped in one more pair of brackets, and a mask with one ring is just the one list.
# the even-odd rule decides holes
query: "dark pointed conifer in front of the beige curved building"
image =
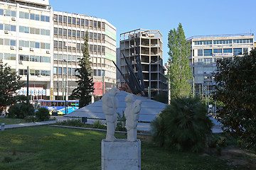
{"label": "dark pointed conifer in front of the beige curved building", "polygon": [[93,79],[92,79],[92,67],[90,62],[90,55],[88,50],[88,32],[85,33],[84,38],[84,47],[82,48],[83,57],[79,62],[80,68],[75,69],[76,77],[78,77],[78,87],[72,91],[72,96],[79,98],[79,108],[87,106],[91,99],[93,88]]}

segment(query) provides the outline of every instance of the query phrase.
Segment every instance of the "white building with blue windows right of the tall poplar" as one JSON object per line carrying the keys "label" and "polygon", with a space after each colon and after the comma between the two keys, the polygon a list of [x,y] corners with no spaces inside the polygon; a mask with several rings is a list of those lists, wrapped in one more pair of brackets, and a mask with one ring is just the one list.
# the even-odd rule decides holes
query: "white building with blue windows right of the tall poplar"
{"label": "white building with blue windows right of the tall poplar", "polygon": [[[235,55],[243,56],[253,47],[253,34],[193,36],[191,42],[191,67],[196,93],[213,91],[216,60],[233,60]],[[208,88],[206,88],[208,86]]]}

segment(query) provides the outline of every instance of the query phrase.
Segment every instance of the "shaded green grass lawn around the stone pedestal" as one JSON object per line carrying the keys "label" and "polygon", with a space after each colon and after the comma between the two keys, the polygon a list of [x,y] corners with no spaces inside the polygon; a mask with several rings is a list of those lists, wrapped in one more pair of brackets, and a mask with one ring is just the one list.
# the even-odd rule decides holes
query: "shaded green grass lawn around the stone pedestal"
{"label": "shaded green grass lawn around the stone pedestal", "polygon": [[[48,125],[0,131],[0,169],[100,170],[104,138],[105,132]],[[169,151],[142,139],[142,169],[243,168],[217,157]]]}

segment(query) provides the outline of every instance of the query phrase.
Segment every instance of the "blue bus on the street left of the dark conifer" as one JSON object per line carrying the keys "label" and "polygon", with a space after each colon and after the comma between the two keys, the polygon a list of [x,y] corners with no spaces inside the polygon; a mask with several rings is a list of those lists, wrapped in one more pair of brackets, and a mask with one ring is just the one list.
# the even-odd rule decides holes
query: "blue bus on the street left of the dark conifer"
{"label": "blue bus on the street left of the dark conifer", "polygon": [[50,113],[51,111],[57,111],[58,113],[61,112],[63,115],[76,111],[79,108],[79,101],[38,100],[35,103],[37,108],[47,108]]}

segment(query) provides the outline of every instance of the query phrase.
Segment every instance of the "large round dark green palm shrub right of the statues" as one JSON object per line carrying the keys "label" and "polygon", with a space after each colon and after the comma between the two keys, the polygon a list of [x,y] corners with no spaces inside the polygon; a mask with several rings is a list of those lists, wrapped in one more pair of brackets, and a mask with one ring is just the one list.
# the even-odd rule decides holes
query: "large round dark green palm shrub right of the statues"
{"label": "large round dark green palm shrub right of the statues", "polygon": [[177,97],[151,123],[154,142],[180,151],[200,152],[213,123],[199,98]]}

